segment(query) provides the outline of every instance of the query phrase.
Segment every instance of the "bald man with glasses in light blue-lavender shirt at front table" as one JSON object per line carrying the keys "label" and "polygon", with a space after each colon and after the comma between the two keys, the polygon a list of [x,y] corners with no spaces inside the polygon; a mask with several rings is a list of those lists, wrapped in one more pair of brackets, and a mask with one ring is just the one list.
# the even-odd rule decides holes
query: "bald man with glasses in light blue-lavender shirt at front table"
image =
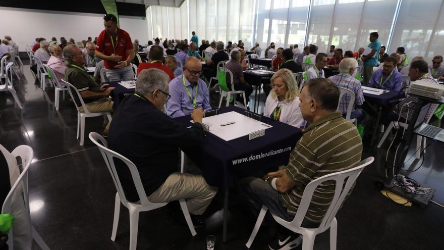
{"label": "bald man with glasses in light blue-lavender shirt at front table", "polygon": [[202,64],[195,57],[185,60],[184,73],[170,82],[171,99],[167,114],[172,118],[189,115],[196,108],[211,110],[206,83],[200,79]]}

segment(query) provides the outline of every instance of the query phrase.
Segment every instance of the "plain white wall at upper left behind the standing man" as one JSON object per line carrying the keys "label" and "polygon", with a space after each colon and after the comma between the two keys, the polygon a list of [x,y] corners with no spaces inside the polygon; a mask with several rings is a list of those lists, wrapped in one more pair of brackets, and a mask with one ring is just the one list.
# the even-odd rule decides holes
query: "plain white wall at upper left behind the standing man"
{"label": "plain white wall at upper left behind the standing man", "polygon": [[[75,41],[94,39],[103,30],[103,15],[92,13],[43,11],[19,8],[0,8],[0,38],[10,35],[19,44],[20,51],[25,51],[25,44],[30,45],[36,37],[47,41],[56,37]],[[139,39],[141,44],[148,41],[147,21],[142,17],[120,16],[120,27],[127,31],[131,39]]]}

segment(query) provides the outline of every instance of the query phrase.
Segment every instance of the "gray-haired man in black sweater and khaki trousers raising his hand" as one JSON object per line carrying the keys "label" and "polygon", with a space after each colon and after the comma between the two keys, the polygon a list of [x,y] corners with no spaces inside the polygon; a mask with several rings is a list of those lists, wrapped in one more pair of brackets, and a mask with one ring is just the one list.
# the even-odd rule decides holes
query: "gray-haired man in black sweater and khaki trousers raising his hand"
{"label": "gray-haired man in black sweater and khaki trousers raising his hand", "polygon": [[[217,188],[210,187],[201,175],[178,172],[177,152],[179,147],[186,152],[185,148],[202,144],[203,111],[193,110],[194,123],[190,128],[165,115],[161,110],[170,98],[168,81],[168,75],[158,69],[140,73],[134,94],[123,99],[113,116],[108,147],[136,165],[148,201],[185,199],[194,226],[202,227],[199,216],[211,203]],[[116,162],[116,170],[128,201],[139,201],[127,166]],[[177,211],[174,218],[184,218],[181,214]]]}

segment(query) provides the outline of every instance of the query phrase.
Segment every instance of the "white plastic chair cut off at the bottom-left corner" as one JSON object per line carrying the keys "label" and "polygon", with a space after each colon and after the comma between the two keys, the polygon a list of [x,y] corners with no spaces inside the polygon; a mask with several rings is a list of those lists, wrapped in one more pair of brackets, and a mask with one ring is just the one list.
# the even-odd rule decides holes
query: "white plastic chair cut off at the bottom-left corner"
{"label": "white plastic chair cut off at the bottom-left corner", "polygon": [[[49,247],[37,233],[35,228],[31,224],[31,212],[29,209],[29,193],[28,193],[28,170],[31,165],[32,159],[34,158],[34,151],[28,145],[20,145],[16,147],[13,152],[11,152],[15,158],[19,157],[22,160],[22,168],[23,171],[20,174],[19,178],[17,178],[14,185],[11,187],[8,195],[6,196],[5,202],[2,207],[2,214],[11,214],[11,205],[13,201],[13,197],[15,196],[17,191],[22,191],[23,189],[23,199],[25,204],[26,216],[28,217],[29,224],[27,225],[28,232],[32,235],[32,239],[34,239],[35,243],[37,243],[38,247],[42,250],[49,250]],[[14,224],[13,224],[14,225]],[[8,233],[8,245],[9,249],[14,249],[14,237],[13,230],[11,229]]]}

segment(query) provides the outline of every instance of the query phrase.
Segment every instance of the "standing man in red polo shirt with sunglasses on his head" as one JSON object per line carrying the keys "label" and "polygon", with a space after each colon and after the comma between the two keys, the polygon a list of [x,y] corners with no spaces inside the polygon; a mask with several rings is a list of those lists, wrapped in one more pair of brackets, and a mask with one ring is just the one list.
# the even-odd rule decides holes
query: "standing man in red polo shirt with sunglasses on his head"
{"label": "standing man in red polo shirt with sunglasses on his head", "polygon": [[131,37],[117,26],[117,17],[106,14],[103,17],[105,29],[97,38],[95,55],[103,59],[106,76],[110,81],[134,79],[131,62],[136,55]]}

